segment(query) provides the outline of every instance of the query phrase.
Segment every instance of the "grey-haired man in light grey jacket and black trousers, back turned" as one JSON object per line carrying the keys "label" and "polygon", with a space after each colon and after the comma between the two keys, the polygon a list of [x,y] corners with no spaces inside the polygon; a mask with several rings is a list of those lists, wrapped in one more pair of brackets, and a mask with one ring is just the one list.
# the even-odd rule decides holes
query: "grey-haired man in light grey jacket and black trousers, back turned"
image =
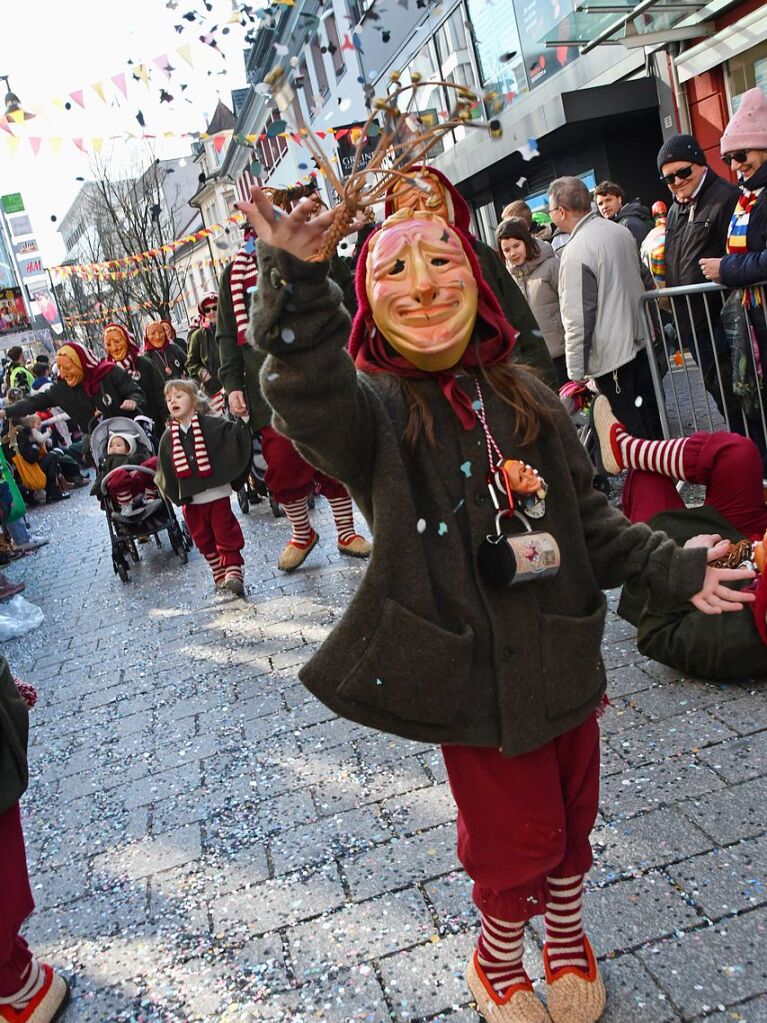
{"label": "grey-haired man in light grey jacket and black trousers, back turned", "polygon": [[568,375],[593,380],[634,436],[660,438],[633,236],[592,212],[589,190],[579,178],[551,182],[549,214],[559,230],[570,233],[559,265]]}

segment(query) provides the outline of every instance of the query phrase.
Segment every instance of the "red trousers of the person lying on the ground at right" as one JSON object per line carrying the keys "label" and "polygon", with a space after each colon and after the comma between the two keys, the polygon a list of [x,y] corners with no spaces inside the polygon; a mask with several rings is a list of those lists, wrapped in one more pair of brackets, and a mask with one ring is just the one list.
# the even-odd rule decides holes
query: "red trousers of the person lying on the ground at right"
{"label": "red trousers of the person lying on the ground at right", "polygon": [[[762,488],[762,458],[754,441],[721,431],[687,438],[682,455],[684,477],[706,485],[706,503],[746,536],[767,529]],[[683,508],[674,482],[657,473],[634,470],[623,490],[623,511],[632,522],[649,522],[661,511]]]}

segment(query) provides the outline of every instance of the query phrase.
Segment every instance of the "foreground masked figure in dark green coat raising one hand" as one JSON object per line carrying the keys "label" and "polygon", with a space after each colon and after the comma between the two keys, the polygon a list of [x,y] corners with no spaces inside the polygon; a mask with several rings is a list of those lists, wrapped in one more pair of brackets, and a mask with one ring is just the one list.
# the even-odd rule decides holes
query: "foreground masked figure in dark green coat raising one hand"
{"label": "foreground masked figure in dark green coat raising one hand", "polygon": [[[598,799],[602,588],[641,579],[657,605],[713,610],[750,601],[727,585],[749,574],[709,568],[707,550],[632,526],[594,490],[558,397],[511,360],[516,331],[464,234],[434,214],[389,218],[358,261],[349,340],[328,264],[306,262],[333,236],[332,213],[275,217],[252,194],[239,205],[259,233],[249,335],[268,355],[275,427],[348,486],[375,531],[354,598],[301,679],[344,717],[442,746],[482,915],[466,977],[483,1015],[595,1023],[605,993],[581,898]],[[540,576],[518,563],[524,585],[504,522],[522,528],[531,558],[548,550]],[[502,588],[480,557],[499,530]],[[546,1008],[523,963],[538,915]]]}

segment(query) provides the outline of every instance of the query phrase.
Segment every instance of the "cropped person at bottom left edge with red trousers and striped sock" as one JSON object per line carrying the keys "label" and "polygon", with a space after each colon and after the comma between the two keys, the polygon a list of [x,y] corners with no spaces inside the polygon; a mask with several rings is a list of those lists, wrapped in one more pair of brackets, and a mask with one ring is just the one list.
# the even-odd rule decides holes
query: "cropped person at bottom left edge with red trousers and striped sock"
{"label": "cropped person at bottom left edge with red trousers and striped sock", "polygon": [[18,800],[29,784],[27,741],[34,688],[11,676],[0,657],[0,1020],[51,1023],[70,988],[60,974],[40,963],[20,935],[35,908]]}

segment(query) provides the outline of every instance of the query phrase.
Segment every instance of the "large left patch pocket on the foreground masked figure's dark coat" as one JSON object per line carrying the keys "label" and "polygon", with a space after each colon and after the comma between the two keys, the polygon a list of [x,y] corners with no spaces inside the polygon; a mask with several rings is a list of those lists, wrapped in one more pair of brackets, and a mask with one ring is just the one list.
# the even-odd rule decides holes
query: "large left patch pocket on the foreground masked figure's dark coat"
{"label": "large left patch pocket on the foreground masked figure's dark coat", "polygon": [[387,599],[365,653],[337,688],[404,721],[450,724],[465,697],[473,632],[449,632]]}

